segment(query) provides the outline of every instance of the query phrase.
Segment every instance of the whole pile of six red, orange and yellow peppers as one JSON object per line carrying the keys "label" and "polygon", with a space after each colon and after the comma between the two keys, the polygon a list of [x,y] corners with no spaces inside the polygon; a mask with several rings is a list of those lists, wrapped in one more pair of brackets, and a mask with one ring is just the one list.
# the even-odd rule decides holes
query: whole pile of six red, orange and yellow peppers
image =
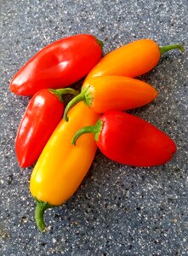
{"label": "whole pile of six red, orange and yellow peppers", "polygon": [[[97,148],[117,163],[140,167],[163,165],[177,150],[167,134],[125,111],[155,100],[157,90],[135,78],[156,67],[163,53],[183,46],[140,39],[104,57],[102,46],[89,34],[62,38],[37,52],[10,82],[12,92],[31,96],[15,153],[20,167],[35,164],[30,190],[40,231],[45,210],[75,193]],[[84,77],[80,93],[68,87]],[[74,97],[65,108],[66,94]]]}

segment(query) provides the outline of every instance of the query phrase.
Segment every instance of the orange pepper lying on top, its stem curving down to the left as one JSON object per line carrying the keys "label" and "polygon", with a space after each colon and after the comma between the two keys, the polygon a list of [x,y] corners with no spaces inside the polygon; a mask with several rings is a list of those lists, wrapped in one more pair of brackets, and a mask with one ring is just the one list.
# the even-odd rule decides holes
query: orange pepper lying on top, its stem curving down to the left
{"label": "orange pepper lying on top, its stem curving down to the left", "polygon": [[64,118],[77,102],[83,101],[97,113],[126,110],[143,106],[157,97],[157,90],[138,79],[122,76],[101,76],[88,79],[81,93],[66,106]]}

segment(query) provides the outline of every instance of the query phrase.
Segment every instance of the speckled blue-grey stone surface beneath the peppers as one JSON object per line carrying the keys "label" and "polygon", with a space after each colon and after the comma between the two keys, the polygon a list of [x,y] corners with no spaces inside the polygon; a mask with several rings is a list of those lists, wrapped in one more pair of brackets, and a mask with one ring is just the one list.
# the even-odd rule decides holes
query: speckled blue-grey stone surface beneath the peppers
{"label": "speckled blue-grey stone surface beneath the peppers", "polygon": [[[184,54],[163,55],[140,78],[159,96],[130,112],[166,131],[178,151],[152,168],[122,166],[97,152],[77,193],[46,212],[48,232],[40,233],[28,189],[32,167],[20,170],[14,154],[29,97],[10,93],[9,81],[37,50],[75,33],[103,40],[104,53],[139,38],[185,45]],[[0,37],[0,255],[187,255],[187,0],[2,0]]]}

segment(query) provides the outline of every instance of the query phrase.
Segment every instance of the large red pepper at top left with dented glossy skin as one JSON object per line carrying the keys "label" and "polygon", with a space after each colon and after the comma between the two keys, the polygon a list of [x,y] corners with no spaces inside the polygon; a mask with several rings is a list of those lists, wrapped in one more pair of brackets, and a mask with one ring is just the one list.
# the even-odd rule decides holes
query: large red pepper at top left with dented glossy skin
{"label": "large red pepper at top left with dented glossy skin", "polygon": [[59,89],[77,82],[100,61],[102,42],[92,35],[62,38],[41,49],[10,82],[10,90],[32,96],[44,88]]}

